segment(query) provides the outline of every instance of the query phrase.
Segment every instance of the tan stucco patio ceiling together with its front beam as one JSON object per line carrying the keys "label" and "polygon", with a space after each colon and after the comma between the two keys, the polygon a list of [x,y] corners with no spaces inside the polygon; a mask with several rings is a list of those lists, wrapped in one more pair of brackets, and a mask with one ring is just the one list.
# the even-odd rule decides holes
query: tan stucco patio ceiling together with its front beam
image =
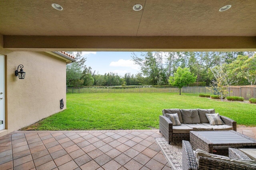
{"label": "tan stucco patio ceiling together with its front beam", "polygon": [[[135,4],[143,9],[132,10]],[[219,12],[225,5],[232,7]],[[255,0],[7,0],[0,6],[4,48],[14,51],[256,51]]]}

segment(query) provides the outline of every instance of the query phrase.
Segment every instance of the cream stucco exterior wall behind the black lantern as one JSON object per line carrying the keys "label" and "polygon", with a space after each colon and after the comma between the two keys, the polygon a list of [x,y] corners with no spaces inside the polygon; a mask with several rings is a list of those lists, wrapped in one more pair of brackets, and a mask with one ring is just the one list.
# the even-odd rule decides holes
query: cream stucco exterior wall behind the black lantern
{"label": "cream stucco exterior wall behind the black lantern", "polygon": [[[8,133],[66,109],[64,60],[44,52],[11,52],[5,59]],[[24,65],[25,79],[14,75],[19,64]]]}

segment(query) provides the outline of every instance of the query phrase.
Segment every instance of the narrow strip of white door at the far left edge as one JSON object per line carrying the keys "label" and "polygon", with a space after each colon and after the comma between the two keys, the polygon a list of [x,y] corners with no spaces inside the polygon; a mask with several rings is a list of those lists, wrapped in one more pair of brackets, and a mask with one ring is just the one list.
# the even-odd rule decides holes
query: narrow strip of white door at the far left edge
{"label": "narrow strip of white door at the far left edge", "polygon": [[4,56],[0,55],[0,130],[5,129]]}

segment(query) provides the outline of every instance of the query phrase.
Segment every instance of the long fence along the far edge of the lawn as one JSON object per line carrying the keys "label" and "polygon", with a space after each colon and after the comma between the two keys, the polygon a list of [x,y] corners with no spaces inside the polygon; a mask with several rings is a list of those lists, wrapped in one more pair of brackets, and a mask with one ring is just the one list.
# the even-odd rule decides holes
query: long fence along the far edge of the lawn
{"label": "long fence along the far edge of the lawn", "polygon": [[[183,87],[182,93],[210,94],[207,86]],[[228,87],[227,96],[243,97],[245,100],[256,98],[256,87]],[[67,93],[179,93],[178,87],[173,86],[67,86]]]}

